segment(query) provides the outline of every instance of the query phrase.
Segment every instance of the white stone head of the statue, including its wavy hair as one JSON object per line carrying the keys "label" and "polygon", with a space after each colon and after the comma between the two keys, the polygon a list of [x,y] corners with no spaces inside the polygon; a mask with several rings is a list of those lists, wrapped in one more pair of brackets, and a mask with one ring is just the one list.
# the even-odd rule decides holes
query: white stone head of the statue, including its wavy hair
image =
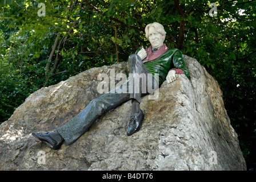
{"label": "white stone head of the statue, including its wavy hair", "polygon": [[166,31],[162,24],[154,22],[147,24],[145,28],[146,38],[152,47],[159,48],[163,46],[163,41],[165,40]]}

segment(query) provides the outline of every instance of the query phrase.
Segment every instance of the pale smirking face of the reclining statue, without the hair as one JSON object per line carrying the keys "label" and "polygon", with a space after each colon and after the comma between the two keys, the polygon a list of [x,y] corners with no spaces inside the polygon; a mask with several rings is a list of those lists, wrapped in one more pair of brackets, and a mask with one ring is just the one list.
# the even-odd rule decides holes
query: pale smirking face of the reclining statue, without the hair
{"label": "pale smirking face of the reclining statue, without the hair", "polygon": [[159,48],[163,46],[164,36],[157,32],[155,27],[149,27],[149,42],[152,47]]}

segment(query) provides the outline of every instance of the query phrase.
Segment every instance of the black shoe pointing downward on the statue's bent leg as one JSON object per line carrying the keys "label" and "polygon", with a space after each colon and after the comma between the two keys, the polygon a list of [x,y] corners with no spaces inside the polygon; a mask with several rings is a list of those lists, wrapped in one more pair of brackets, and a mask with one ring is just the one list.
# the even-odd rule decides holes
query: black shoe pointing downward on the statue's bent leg
{"label": "black shoe pointing downward on the statue's bent leg", "polygon": [[142,110],[139,111],[138,116],[135,116],[135,115],[131,116],[129,126],[128,126],[128,129],[127,129],[127,135],[128,136],[130,136],[130,135],[134,134],[135,132],[139,131],[139,129],[141,128],[143,118],[144,118],[144,114],[143,114]]}

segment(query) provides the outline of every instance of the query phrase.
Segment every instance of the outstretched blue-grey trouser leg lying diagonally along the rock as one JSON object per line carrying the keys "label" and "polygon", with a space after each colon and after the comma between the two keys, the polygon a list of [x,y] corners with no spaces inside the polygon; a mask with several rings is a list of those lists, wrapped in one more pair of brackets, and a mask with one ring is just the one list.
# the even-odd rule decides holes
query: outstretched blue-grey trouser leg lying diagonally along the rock
{"label": "outstretched blue-grey trouser leg lying diagonally along the rock", "polygon": [[[128,86],[125,89],[128,89]],[[81,137],[104,113],[130,100],[127,90],[123,90],[122,93],[117,93],[116,90],[118,89],[116,88],[114,93],[112,90],[95,98],[78,115],[57,129],[67,144],[71,144]]]}

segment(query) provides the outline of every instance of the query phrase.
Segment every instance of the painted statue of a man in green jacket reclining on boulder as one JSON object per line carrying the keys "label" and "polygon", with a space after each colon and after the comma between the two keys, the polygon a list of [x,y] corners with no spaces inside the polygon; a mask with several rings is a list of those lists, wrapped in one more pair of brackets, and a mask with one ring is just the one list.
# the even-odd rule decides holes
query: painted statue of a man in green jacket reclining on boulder
{"label": "painted statue of a man in green jacket reclining on boulder", "polygon": [[[167,83],[173,82],[176,79],[175,74],[189,76],[181,51],[169,49],[166,44],[163,44],[166,32],[162,24],[157,22],[147,24],[145,33],[151,46],[147,49],[141,47],[129,56],[129,77],[125,84],[92,100],[81,113],[59,127],[57,131],[46,134],[33,132],[33,136],[54,150],[58,150],[63,142],[66,144],[75,142],[104,113],[129,100],[131,100],[131,118],[127,127],[127,135],[130,136],[139,131],[144,117],[139,107],[141,97],[157,90],[165,80]],[[130,74],[133,77],[130,77]],[[146,75],[146,81],[141,79],[138,84],[136,80],[140,74]],[[142,88],[150,88],[149,85],[152,89],[142,92]],[[127,89],[125,90],[127,92],[120,92],[123,89]]]}

